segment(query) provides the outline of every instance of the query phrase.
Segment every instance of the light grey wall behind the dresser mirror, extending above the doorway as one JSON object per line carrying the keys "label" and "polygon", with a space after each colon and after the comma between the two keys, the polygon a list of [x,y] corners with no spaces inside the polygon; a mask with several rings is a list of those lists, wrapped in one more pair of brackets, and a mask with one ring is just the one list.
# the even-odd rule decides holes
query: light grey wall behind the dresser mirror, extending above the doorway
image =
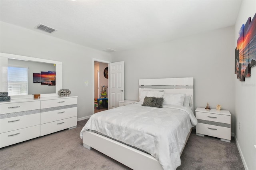
{"label": "light grey wall behind the dresser mirror, extending above the doorway", "polygon": [[78,96],[78,119],[92,115],[92,59],[111,61],[109,53],[60,40],[44,32],[40,34],[5,22],[0,24],[0,52],[62,61],[62,87]]}

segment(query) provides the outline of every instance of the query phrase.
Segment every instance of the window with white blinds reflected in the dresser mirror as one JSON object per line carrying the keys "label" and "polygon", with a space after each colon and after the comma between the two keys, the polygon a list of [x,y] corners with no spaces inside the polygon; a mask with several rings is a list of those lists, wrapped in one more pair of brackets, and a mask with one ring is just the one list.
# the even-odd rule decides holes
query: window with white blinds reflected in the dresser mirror
{"label": "window with white blinds reflected in the dresser mirror", "polygon": [[28,68],[8,67],[8,94],[28,95]]}

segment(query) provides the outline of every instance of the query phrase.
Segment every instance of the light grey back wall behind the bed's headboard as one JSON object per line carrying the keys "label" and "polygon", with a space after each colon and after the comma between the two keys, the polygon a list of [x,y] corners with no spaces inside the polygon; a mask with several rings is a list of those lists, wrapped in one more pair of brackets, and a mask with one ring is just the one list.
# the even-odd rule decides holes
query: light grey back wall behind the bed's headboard
{"label": "light grey back wall behind the bed's headboard", "polygon": [[115,52],[112,61],[124,61],[128,100],[138,100],[139,79],[194,77],[194,108],[220,104],[234,132],[234,27]]}

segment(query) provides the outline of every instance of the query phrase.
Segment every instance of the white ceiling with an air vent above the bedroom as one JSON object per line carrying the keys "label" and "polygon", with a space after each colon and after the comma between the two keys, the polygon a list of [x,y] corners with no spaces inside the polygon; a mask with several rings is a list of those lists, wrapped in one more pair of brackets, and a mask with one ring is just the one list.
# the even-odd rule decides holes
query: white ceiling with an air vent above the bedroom
{"label": "white ceiling with an air vent above the bedroom", "polygon": [[[86,47],[123,51],[233,26],[241,0],[1,0],[0,20]],[[58,31],[35,29],[44,24]]]}

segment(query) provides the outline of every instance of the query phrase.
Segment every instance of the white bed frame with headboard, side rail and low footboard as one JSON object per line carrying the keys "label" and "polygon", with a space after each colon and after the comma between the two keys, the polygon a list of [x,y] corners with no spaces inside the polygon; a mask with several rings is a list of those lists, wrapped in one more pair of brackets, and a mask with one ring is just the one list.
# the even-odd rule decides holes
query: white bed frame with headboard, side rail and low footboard
{"label": "white bed frame with headboard, side rail and low footboard", "polygon": [[[164,90],[165,93],[185,93],[192,95],[190,104],[192,111],[194,111],[194,100],[193,100],[193,77],[186,78],[168,78],[168,79],[140,79],[139,80],[139,91],[143,90]],[[190,132],[186,137],[186,142],[190,136]],[[184,144],[184,147],[186,145]],[[122,164],[134,169],[134,170],[162,170],[162,166],[150,154],[146,154],[140,150],[94,133],[87,130],[83,133],[84,147],[88,149],[96,149],[103,154],[121,162]],[[184,149],[182,148],[182,151]],[[180,155],[182,154],[180,152]]]}

